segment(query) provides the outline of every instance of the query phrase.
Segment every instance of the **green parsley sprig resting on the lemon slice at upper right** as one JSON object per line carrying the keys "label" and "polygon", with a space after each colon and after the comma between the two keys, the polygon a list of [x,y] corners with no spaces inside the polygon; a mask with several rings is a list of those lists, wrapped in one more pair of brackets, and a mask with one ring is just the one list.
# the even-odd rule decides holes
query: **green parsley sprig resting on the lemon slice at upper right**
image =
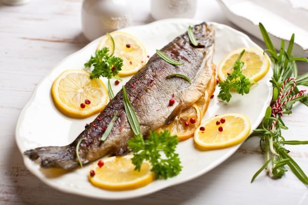
{"label": "green parsley sprig resting on the lemon slice at upper right", "polygon": [[225,81],[220,81],[218,86],[220,87],[220,92],[218,97],[223,101],[229,102],[231,100],[231,90],[234,89],[236,93],[244,95],[250,91],[250,80],[246,78],[241,69],[244,66],[244,62],[240,61],[240,58],[244,54],[245,50],[241,51],[237,60],[233,65],[233,72],[227,77]]}

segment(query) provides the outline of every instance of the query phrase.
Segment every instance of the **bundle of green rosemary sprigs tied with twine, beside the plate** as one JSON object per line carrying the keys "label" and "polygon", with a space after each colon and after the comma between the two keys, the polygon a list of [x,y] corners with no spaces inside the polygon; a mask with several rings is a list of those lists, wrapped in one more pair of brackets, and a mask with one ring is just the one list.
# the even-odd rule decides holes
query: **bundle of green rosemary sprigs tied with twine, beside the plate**
{"label": "bundle of green rosemary sprigs tied with twine, beside the plate", "polygon": [[296,65],[297,60],[308,62],[308,59],[293,56],[294,34],[291,37],[288,49],[285,50],[285,42],[282,40],[281,48],[276,52],[264,26],[259,23],[259,27],[267,47],[264,51],[270,54],[274,65],[274,75],[270,81],[273,85],[273,99],[271,106],[266,110],[261,125],[249,136],[260,137],[260,148],[266,157],[265,164],[255,173],[251,182],[263,169],[266,169],[270,177],[281,178],[287,171],[285,168],[287,165],[298,179],[308,185],[307,175],[288,154],[290,151],[283,147],[283,145],[306,145],[308,141],[286,141],[281,135],[283,129],[288,129],[282,120],[282,115],[291,114],[293,104],[297,101],[308,106],[308,96],[297,87],[298,85],[308,86],[308,73],[297,76]]}

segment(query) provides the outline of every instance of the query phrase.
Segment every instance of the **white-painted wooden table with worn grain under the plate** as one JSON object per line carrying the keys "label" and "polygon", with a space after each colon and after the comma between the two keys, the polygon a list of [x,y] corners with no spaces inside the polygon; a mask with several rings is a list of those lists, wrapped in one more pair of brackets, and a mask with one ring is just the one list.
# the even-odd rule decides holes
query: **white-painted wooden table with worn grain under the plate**
{"label": "white-painted wooden table with worn grain under the plate", "polygon": [[[134,0],[135,24],[146,24],[150,0]],[[134,200],[108,202],[61,193],[43,184],[23,165],[15,143],[15,124],[23,106],[40,79],[69,54],[88,42],[80,25],[81,0],[32,0],[22,6],[0,3],[0,204],[102,205],[308,205],[308,188],[291,171],[279,180],[262,172],[250,184],[252,175],[264,163],[258,139],[245,142],[223,164],[192,180]],[[215,0],[199,0],[196,19],[228,22]],[[264,48],[264,44],[252,38]],[[305,64],[299,72],[308,71]],[[307,140],[308,108],[299,104],[285,116],[287,139]],[[44,136],[42,136],[44,137]],[[308,146],[289,147],[290,154],[308,173]],[[121,193],[119,193],[121,194]]]}

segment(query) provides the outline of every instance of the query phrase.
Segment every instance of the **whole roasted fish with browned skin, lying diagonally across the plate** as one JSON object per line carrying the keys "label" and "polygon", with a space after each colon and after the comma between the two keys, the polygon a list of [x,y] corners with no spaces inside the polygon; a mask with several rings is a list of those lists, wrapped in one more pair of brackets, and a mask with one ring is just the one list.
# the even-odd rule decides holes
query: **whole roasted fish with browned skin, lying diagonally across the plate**
{"label": "whole roasted fish with browned skin, lying diagonally across the plate", "polygon": [[[149,131],[170,123],[181,109],[196,102],[211,81],[214,26],[201,23],[193,27],[193,32],[198,42],[197,47],[190,43],[186,32],[160,50],[168,57],[184,64],[172,65],[154,54],[125,85],[144,136],[147,136]],[[166,78],[174,73],[186,75],[191,84],[182,78]],[[175,101],[173,105],[169,105],[170,99]],[[114,127],[108,138],[102,142],[100,138],[116,110],[118,116]],[[71,169],[78,166],[76,146],[80,139],[85,138],[80,143],[78,154],[81,163],[86,164],[107,154],[126,154],[127,141],[132,137],[133,132],[127,120],[120,91],[70,145],[41,147],[28,150],[24,154],[32,160],[38,160],[43,168]]]}

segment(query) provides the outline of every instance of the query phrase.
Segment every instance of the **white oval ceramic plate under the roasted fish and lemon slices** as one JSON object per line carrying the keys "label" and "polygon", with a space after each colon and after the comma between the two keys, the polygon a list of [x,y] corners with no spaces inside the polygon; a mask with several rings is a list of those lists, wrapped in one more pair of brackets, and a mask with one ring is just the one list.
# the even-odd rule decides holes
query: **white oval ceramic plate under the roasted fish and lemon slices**
{"label": "white oval ceramic plate under the roasted fish and lemon slices", "polygon": [[[166,19],[154,23],[122,29],[139,38],[146,46],[149,55],[155,49],[160,49],[175,37],[187,30],[188,25],[201,23],[192,19]],[[246,35],[226,25],[213,23],[216,29],[214,62],[220,60],[230,51],[241,47],[259,48]],[[50,88],[56,77],[67,69],[83,69],[83,64],[94,53],[99,39],[88,44],[85,48],[68,56],[61,61],[36,87],[30,101],[22,110],[16,126],[16,142],[21,153],[42,146],[64,146],[71,143],[83,131],[85,123],[91,122],[96,116],[86,119],[74,119],[59,112],[51,99]],[[253,86],[248,95],[233,95],[228,104],[214,98],[203,120],[227,112],[246,114],[252,129],[255,129],[263,119],[265,109],[272,96],[269,80],[272,70]],[[125,82],[130,77],[124,79]],[[107,84],[106,79],[103,79]],[[113,83],[112,83],[113,84]],[[123,85],[124,83],[122,83]],[[114,86],[115,93],[121,85]],[[215,96],[219,89],[216,89]],[[59,169],[41,169],[39,164],[23,155],[26,167],[44,183],[60,191],[98,199],[129,199],[154,193],[169,186],[192,180],[219,165],[233,154],[240,145],[214,151],[198,151],[194,148],[193,139],[180,142],[177,152],[181,158],[183,170],[176,177],[167,180],[156,180],[148,186],[131,191],[112,192],[92,186],[87,180],[90,165],[77,168],[65,174]]]}

